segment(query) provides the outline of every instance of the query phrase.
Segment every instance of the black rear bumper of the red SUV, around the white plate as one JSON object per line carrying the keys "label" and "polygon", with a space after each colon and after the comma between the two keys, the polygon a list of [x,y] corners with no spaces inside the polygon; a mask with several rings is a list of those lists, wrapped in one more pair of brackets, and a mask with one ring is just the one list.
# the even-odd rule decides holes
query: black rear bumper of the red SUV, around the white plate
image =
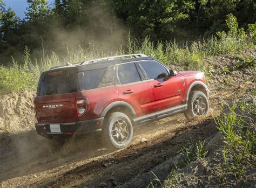
{"label": "black rear bumper of the red SUV, around the white plate", "polygon": [[[71,135],[75,134],[85,134],[94,131],[101,131],[103,127],[104,117],[100,117],[98,119],[86,120],[86,121],[78,121],[73,123],[59,123],[60,133],[52,133],[50,129],[51,123],[37,123],[36,131],[39,135],[52,138],[52,137],[65,137],[67,133]],[[58,124],[58,123],[52,123]]]}

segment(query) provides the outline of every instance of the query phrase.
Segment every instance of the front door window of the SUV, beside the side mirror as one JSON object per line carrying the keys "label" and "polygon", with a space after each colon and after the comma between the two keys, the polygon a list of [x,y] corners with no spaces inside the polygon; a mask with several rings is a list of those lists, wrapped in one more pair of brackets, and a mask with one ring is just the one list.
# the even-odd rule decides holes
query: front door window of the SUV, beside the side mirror
{"label": "front door window of the SUV, beside the side mirror", "polygon": [[140,61],[139,64],[149,79],[166,78],[169,76],[167,69],[156,61]]}

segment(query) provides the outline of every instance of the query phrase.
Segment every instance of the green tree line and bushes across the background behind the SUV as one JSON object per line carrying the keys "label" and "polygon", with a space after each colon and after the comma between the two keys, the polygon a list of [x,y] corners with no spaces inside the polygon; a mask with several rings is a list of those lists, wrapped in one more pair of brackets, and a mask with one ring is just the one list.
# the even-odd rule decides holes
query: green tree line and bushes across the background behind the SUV
{"label": "green tree line and bushes across the background behind the SUV", "polygon": [[[255,44],[256,11],[253,0],[56,0],[52,6],[46,0],[28,0],[26,18],[22,22],[13,10],[5,9],[3,0],[0,1],[0,11],[1,59],[10,59],[11,55],[16,59],[22,58],[25,46],[31,49],[31,54],[36,58],[41,58],[38,54],[42,46],[45,46],[43,53],[50,54],[54,50],[63,55],[67,46],[90,48],[92,40],[101,43],[105,52],[115,52],[120,44],[124,45],[123,37],[130,30],[135,38],[150,38],[154,47],[158,40],[164,41],[158,46],[160,54],[165,52],[166,41],[175,43],[176,38],[181,50],[173,49],[174,53],[169,54],[171,60],[182,59],[191,62],[190,68],[205,69],[201,60],[208,54],[229,53],[240,49],[247,38],[251,38]],[[238,23],[245,29],[239,29]],[[254,24],[250,24],[248,31],[245,31],[248,23]],[[226,33],[229,37],[222,37],[221,43],[216,42],[214,34],[226,30],[226,27],[230,30]],[[190,44],[199,36],[213,36],[210,39],[213,46],[203,44],[208,43],[208,40],[200,40],[203,44],[201,47],[210,47],[206,52],[192,50],[193,53],[186,53],[181,44],[186,41]],[[238,36],[238,40],[233,40],[231,36]],[[142,41],[139,41],[139,45]],[[163,55],[159,56],[163,61],[170,60]]]}

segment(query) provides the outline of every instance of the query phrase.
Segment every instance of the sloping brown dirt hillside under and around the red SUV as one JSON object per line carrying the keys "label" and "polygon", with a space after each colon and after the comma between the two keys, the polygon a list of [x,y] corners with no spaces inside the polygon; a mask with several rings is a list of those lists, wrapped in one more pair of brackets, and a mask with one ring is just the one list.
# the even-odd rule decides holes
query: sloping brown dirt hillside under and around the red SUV
{"label": "sloping brown dirt hillside under and around the red SUV", "polygon": [[[52,143],[38,136],[33,127],[35,91],[3,95],[0,100],[3,109],[0,113],[0,185],[254,186],[255,149],[239,163],[238,166],[243,167],[240,174],[228,171],[223,167],[224,146],[230,151],[228,154],[231,150],[214,118],[221,118],[221,106],[226,103],[231,108],[233,103],[244,101],[246,110],[247,107],[255,109],[255,54],[256,48],[250,48],[204,58],[203,63],[208,66],[207,84],[211,89],[207,116],[189,122],[183,114],[178,114],[146,124],[135,130],[136,136],[128,148],[118,151],[104,148],[98,135],[78,137],[62,148],[52,149]],[[187,64],[173,63],[170,67],[181,71],[187,69]],[[226,105],[226,109],[230,108]],[[248,117],[247,126],[255,139],[255,110],[250,112],[246,111],[245,120]],[[147,142],[141,143],[142,138]],[[206,155],[184,162],[185,151],[194,152],[203,141],[201,149]],[[249,143],[255,148],[255,140]]]}

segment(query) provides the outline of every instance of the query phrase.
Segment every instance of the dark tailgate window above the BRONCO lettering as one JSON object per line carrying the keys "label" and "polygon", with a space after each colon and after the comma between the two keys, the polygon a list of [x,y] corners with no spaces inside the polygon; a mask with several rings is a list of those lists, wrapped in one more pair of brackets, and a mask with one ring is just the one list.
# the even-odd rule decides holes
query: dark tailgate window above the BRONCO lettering
{"label": "dark tailgate window above the BRONCO lettering", "polygon": [[77,92],[78,85],[77,73],[42,75],[38,83],[37,96]]}

